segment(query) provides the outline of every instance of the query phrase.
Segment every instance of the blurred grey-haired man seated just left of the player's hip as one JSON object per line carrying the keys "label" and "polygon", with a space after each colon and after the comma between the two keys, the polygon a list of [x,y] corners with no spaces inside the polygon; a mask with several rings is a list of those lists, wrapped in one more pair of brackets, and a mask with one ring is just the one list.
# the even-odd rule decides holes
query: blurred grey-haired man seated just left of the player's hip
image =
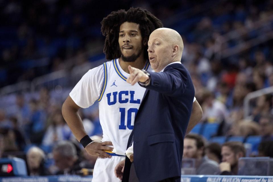
{"label": "blurred grey-haired man seated just left of the player's hip", "polygon": [[59,169],[55,175],[79,174],[82,169],[76,147],[69,141],[61,141],[54,146],[53,159]]}

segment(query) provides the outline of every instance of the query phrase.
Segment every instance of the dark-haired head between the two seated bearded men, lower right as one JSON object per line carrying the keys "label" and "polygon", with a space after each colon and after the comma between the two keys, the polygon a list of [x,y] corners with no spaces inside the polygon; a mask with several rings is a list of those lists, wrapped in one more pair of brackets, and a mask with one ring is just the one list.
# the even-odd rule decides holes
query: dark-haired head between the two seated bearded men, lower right
{"label": "dark-haired head between the two seated bearded men, lower right", "polygon": [[205,156],[210,160],[214,160],[218,164],[221,162],[221,145],[213,142],[205,147]]}

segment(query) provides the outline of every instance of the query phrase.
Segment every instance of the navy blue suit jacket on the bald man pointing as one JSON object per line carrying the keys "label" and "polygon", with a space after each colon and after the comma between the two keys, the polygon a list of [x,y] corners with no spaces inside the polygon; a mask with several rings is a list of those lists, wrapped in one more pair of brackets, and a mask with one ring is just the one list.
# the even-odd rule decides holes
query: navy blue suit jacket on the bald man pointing
{"label": "navy blue suit jacket on the bald man pointing", "polygon": [[[150,85],[135,118],[132,136],[134,165],[139,181],[180,181],[183,139],[195,95],[184,65],[168,65],[164,72],[150,73]],[[131,162],[126,157],[123,180],[128,181]]]}

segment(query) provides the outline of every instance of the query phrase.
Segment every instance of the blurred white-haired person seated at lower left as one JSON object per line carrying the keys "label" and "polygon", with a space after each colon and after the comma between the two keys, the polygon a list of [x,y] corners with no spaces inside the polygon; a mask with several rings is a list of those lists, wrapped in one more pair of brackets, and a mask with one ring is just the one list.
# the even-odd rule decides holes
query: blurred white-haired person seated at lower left
{"label": "blurred white-haired person seated at lower left", "polygon": [[28,163],[28,175],[45,176],[51,175],[44,167],[45,153],[38,147],[31,147],[26,153]]}

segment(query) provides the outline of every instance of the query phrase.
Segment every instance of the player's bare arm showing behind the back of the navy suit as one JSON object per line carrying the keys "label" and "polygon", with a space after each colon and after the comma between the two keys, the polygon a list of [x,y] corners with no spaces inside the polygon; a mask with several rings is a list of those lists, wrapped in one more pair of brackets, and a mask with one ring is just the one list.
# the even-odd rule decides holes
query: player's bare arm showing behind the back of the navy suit
{"label": "player's bare arm showing behind the back of the navy suit", "polygon": [[190,121],[187,127],[186,135],[199,123],[202,119],[203,111],[197,100],[193,102],[193,110],[191,113]]}

